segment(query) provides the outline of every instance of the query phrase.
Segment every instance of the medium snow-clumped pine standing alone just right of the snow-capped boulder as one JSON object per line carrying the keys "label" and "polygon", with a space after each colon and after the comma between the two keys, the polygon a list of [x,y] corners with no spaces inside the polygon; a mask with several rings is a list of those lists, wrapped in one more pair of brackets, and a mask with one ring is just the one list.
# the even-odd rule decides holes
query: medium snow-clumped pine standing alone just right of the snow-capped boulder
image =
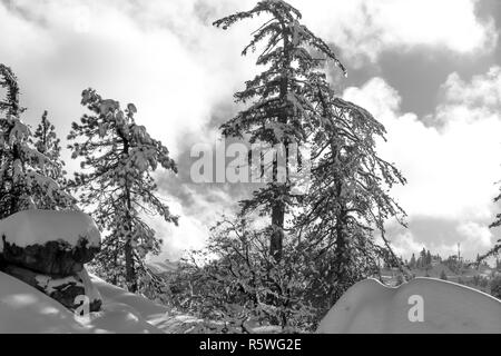
{"label": "medium snow-clumped pine standing alone just right of the snow-capped boulder", "polygon": [[82,158],[82,172],[70,185],[79,189],[81,204],[106,233],[96,268],[107,280],[143,291],[149,285],[141,283],[155,278],[145,258],[157,254],[161,244],[143,217],[158,214],[166,221],[178,220],[155,195],[151,174],[158,166],[177,172],[176,164],[167,148],[136,123],[132,103],[122,110],[94,89],[82,92],[81,103],[90,115],[72,123],[68,139],[73,141],[72,158]]}

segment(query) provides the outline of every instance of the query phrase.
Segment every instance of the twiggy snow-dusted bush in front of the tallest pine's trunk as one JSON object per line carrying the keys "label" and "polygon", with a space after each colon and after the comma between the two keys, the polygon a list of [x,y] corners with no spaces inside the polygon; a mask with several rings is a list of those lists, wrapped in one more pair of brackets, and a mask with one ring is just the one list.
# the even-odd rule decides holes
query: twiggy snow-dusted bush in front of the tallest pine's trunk
{"label": "twiggy snow-dusted bush in front of the tallest pine's trunk", "polygon": [[248,324],[313,329],[314,310],[305,299],[312,265],[288,244],[276,263],[268,236],[244,220],[220,222],[207,248],[193,251],[170,281],[175,306],[244,330]]}

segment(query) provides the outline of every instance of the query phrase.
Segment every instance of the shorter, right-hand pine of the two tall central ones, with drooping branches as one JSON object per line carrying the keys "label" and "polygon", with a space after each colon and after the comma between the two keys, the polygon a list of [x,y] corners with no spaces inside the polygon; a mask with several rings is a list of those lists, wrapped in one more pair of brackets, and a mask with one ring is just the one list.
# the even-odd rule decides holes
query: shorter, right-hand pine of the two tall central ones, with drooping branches
{"label": "shorter, right-hand pine of the two tall central ones, with drooping branches", "polygon": [[[315,251],[323,271],[317,279],[330,298],[321,294],[321,299],[328,309],[354,283],[379,274],[379,259],[401,266],[384,222],[396,217],[403,224],[405,212],[389,189],[405,179],[377,155],[384,127],[365,109],[336,97],[325,78],[313,85],[320,121],[312,135],[312,186],[294,227],[303,250]],[[384,247],[374,241],[374,230]]]}

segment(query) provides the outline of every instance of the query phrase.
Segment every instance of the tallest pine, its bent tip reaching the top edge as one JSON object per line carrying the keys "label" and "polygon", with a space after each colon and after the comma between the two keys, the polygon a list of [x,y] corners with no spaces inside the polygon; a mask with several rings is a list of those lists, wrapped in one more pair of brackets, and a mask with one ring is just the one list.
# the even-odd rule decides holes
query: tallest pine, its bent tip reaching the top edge
{"label": "tallest pine, its bent tip reaching the top edge", "polygon": [[[214,26],[226,30],[237,21],[261,14],[271,18],[253,33],[243,56],[263,46],[256,65],[266,69],[235,93],[238,102],[252,105],[224,123],[222,130],[225,137],[248,136],[252,144],[281,144],[288,157],[289,145],[304,144],[317,121],[312,99],[317,90],[315,81],[325,77],[322,67],[332,60],[343,72],[344,68],[330,47],[299,22],[301,12],[282,0],[259,1],[254,9],[219,19]],[[293,204],[291,181],[278,181],[276,160],[272,182],[243,201],[243,214],[261,209],[261,214],[271,215],[269,248],[276,260],[282,255],[284,217]]]}

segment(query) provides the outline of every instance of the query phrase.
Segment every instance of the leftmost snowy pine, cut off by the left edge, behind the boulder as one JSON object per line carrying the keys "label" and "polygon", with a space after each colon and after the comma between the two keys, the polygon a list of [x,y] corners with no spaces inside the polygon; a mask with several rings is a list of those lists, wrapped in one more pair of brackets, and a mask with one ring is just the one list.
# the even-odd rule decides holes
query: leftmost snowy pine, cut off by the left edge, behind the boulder
{"label": "leftmost snowy pine, cut off by the left edge, behind the boulder", "polygon": [[75,207],[75,198],[51,178],[58,164],[31,144],[31,131],[21,120],[19,86],[13,71],[0,63],[0,218],[45,201],[53,209]]}

